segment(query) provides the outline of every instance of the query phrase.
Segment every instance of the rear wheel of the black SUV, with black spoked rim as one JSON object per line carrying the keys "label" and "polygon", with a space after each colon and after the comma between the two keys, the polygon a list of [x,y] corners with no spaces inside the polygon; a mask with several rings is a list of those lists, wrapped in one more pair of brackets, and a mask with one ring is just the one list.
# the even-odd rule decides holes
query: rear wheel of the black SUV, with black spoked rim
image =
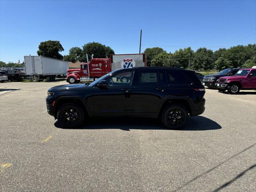
{"label": "rear wheel of the black SUV, with black spoked rim", "polygon": [[161,120],[169,129],[181,129],[188,121],[188,111],[180,104],[170,104],[164,108]]}

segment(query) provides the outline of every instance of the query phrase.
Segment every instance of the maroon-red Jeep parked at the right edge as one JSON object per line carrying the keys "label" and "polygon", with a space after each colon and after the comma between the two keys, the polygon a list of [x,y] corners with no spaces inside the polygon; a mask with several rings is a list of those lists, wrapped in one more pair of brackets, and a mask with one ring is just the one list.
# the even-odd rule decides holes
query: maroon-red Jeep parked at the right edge
{"label": "maroon-red Jeep parked at the right edge", "polygon": [[220,92],[228,90],[230,94],[236,94],[240,89],[256,89],[256,68],[239,69],[232,77],[221,77],[215,86]]}

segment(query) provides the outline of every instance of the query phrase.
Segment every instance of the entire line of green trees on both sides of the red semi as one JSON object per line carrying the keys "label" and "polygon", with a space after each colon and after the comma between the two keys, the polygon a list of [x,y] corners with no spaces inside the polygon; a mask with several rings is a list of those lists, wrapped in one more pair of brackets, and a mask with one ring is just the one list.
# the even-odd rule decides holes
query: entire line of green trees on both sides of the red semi
{"label": "entire line of green trees on both sides of the red semi", "polygon": [[[37,54],[70,62],[86,62],[86,53],[89,59],[92,54],[94,58],[109,58],[110,54],[114,54],[112,48],[98,42],[89,42],[84,44],[82,48],[72,47],[69,54],[64,56],[60,54],[62,51],[64,51],[64,48],[60,41],[48,40],[39,44]],[[168,53],[160,47],[154,47],[146,48],[144,53],[147,58],[147,66],[182,67],[198,71],[220,71],[225,68],[251,68],[256,66],[256,44],[238,45],[228,49],[220,48],[216,51],[205,47],[194,51],[188,47],[176,50],[174,53]],[[0,62],[0,67],[2,66],[16,67],[20,65]]]}

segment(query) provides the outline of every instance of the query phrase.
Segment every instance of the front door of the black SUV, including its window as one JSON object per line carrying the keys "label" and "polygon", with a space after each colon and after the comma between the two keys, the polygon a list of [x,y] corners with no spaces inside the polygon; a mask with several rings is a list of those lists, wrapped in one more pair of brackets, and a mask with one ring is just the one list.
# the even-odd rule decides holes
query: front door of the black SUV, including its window
{"label": "front door of the black SUV, including its window", "polygon": [[[105,79],[108,86],[94,86],[93,108],[95,115],[132,113],[133,75],[134,70],[119,71]],[[126,81],[123,80],[124,78]]]}

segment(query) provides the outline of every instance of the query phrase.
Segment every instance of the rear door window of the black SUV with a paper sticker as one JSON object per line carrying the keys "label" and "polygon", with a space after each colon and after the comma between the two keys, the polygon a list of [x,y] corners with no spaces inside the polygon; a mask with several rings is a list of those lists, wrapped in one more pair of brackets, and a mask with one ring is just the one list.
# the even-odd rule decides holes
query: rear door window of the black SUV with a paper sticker
{"label": "rear door window of the black SUV with a paper sticker", "polygon": [[138,74],[139,85],[142,86],[156,86],[157,85],[157,71],[140,71]]}

